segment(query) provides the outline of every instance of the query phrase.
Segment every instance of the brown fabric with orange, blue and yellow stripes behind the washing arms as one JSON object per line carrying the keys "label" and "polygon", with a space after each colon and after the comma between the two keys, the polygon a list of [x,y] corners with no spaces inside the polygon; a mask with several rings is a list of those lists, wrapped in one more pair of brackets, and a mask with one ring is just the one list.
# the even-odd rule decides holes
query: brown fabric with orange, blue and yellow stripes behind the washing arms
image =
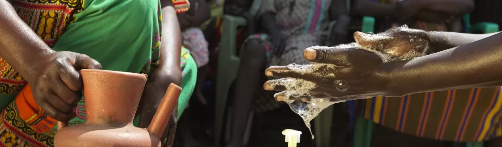
{"label": "brown fabric with orange, blue and yellow stripes behind the washing arms", "polygon": [[[395,0],[383,0],[395,3]],[[417,20],[412,28],[446,31],[444,24]],[[384,29],[385,30],[385,27]],[[373,97],[363,116],[399,132],[447,141],[484,141],[502,135],[500,87]]]}

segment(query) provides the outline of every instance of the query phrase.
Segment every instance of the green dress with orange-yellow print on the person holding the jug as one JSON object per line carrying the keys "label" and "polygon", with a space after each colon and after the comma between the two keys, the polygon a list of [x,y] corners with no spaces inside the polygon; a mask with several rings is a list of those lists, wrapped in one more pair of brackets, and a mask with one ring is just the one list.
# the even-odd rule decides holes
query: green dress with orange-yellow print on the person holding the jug
{"label": "green dress with orange-yellow print on the person holding the jug", "polygon": [[[151,74],[157,67],[162,37],[159,0],[13,0],[13,6],[53,50],[87,54],[106,70]],[[180,59],[186,74],[179,115],[197,71],[187,49],[182,49]],[[23,77],[0,60],[0,146],[54,146],[56,121],[38,106]],[[69,124],[85,122],[83,99],[74,111],[77,116]]]}

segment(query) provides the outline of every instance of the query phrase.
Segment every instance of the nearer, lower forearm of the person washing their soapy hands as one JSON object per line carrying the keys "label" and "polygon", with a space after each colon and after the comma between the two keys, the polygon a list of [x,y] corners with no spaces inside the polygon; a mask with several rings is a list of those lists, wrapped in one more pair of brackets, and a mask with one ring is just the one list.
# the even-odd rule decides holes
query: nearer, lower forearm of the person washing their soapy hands
{"label": "nearer, lower forearm of the person washing their soapy hands", "polygon": [[500,86],[500,39],[502,33],[409,61],[388,62],[385,64],[390,71],[388,89],[405,95],[446,89]]}

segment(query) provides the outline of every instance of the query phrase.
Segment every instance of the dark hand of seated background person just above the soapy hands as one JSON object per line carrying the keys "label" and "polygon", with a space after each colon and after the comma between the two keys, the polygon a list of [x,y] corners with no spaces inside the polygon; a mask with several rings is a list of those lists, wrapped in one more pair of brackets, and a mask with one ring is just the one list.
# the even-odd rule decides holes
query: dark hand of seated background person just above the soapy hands
{"label": "dark hand of seated background person just above the soapy hands", "polygon": [[416,15],[424,5],[423,0],[401,0],[396,3],[395,19],[404,21]]}

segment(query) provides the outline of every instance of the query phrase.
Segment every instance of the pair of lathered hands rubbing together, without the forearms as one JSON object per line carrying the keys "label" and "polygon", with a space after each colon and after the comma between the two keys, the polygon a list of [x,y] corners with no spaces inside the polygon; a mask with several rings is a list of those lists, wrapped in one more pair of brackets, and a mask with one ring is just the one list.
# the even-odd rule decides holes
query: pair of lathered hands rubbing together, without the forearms
{"label": "pair of lathered hands rubbing together, without the forearms", "polygon": [[377,34],[355,32],[357,44],[313,46],[304,57],[313,64],[271,66],[268,76],[281,77],[264,84],[279,90],[276,100],[331,98],[343,101],[372,96],[402,96],[387,88],[392,62],[425,55],[430,39],[426,31],[404,25]]}

